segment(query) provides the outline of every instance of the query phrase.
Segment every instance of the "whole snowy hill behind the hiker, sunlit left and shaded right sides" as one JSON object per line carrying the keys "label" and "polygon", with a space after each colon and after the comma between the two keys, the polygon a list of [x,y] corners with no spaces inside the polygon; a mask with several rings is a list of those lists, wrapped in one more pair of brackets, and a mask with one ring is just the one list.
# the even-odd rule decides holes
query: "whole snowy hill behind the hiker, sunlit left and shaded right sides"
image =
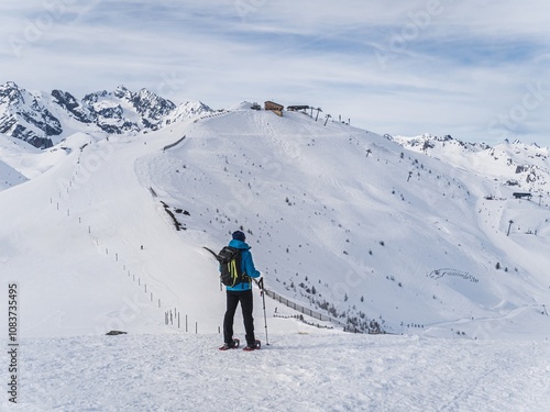
{"label": "whole snowy hill behind the hiker, sunlit left and shaded right sides", "polygon": [[[51,302],[63,313],[86,307],[86,322],[59,319],[63,334],[105,325],[129,281],[158,312],[152,323],[175,308],[216,331],[209,309],[222,302],[201,247],[220,248],[239,227],[270,289],[350,327],[484,337],[494,323],[503,333],[548,323],[548,209],[370,132],[242,109],[134,136],[75,134],[25,163],[44,156],[47,174],[4,191],[0,207],[14,215],[11,277],[63,288],[80,279]],[[50,297],[35,302],[29,326],[41,335]]]}

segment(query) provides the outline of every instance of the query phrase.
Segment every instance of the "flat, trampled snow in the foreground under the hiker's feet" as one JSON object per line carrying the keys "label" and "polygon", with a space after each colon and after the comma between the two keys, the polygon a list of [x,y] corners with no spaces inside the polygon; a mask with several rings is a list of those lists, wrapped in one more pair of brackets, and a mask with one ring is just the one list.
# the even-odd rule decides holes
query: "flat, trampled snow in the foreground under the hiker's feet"
{"label": "flat, trampled snow in the foreground under the hiker's feet", "polygon": [[[217,335],[22,342],[20,403],[2,411],[546,411],[550,346],[524,341]],[[2,353],[1,359],[6,360]],[[3,403],[2,403],[3,402]]]}

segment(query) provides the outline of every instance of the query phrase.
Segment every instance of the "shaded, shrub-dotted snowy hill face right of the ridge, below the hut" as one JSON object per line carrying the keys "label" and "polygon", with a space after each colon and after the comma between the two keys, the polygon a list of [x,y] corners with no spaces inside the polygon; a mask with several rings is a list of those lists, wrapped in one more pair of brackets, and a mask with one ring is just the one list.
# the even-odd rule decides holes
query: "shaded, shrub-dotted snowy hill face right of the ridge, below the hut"
{"label": "shaded, shrub-dotted snowy hill face right of the ridge, below the hut", "polygon": [[[142,183],[188,210],[189,229],[221,238],[249,230],[274,290],[344,322],[403,332],[474,319],[463,327],[475,334],[479,320],[538,316],[543,271],[508,256],[505,221],[493,222],[493,235],[476,215],[487,180],[372,133],[285,114],[238,111],[197,124],[174,149],[136,163]],[[544,226],[544,213],[534,222]]]}

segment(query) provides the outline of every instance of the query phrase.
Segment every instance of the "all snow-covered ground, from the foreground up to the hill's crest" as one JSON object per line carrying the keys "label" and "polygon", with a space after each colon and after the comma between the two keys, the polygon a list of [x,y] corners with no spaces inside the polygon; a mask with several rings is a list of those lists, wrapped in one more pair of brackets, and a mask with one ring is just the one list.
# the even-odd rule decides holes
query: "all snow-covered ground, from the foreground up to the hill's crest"
{"label": "all snow-covered ground, from the foreground up to the hill's crest", "polygon": [[[521,175],[496,152],[437,159],[245,105],[47,151],[3,138],[1,180],[30,180],[0,191],[2,289],[19,286],[21,342],[21,404],[4,394],[2,410],[546,410],[548,201],[513,199],[506,182]],[[503,151],[525,165],[519,147]],[[536,160],[543,177],[548,158]],[[532,190],[547,196],[546,181]],[[224,294],[202,246],[240,226],[268,289],[409,336],[304,316],[318,329],[266,299],[267,346],[255,290],[263,348],[218,353]]]}

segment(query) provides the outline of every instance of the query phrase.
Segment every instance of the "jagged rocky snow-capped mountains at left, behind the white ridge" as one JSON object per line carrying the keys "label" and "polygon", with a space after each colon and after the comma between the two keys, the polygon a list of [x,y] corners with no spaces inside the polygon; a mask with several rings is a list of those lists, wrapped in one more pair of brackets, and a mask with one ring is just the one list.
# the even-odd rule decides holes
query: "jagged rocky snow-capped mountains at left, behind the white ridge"
{"label": "jagged rocky snow-capped mountains at left, behind the white ridge", "polygon": [[108,134],[154,131],[209,112],[212,110],[199,101],[176,105],[147,89],[132,92],[124,86],[78,100],[63,90],[31,92],[13,81],[0,85],[0,133],[40,148],[84,127]]}

